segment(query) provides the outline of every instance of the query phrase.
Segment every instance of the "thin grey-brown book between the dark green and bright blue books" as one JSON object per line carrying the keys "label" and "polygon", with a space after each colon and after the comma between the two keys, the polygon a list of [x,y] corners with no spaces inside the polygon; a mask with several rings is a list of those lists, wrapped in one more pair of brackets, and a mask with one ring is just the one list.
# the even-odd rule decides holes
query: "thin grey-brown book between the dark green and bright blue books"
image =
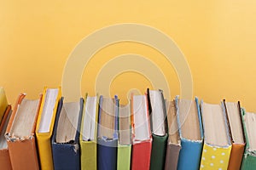
{"label": "thin grey-brown book between the dark green and bright blue books", "polygon": [[177,161],[181,150],[177,127],[177,111],[175,101],[166,101],[166,113],[168,122],[168,139],[166,146],[165,170],[177,170]]}

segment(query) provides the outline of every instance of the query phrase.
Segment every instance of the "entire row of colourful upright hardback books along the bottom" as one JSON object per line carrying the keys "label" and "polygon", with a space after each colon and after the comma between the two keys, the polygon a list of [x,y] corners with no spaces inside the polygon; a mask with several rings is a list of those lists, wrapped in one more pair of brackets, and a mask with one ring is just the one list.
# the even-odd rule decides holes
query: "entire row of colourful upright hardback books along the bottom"
{"label": "entire row of colourful upright hardback books along the bottom", "polygon": [[85,95],[65,102],[61,88],[12,108],[0,88],[1,169],[256,169],[256,114],[240,103],[167,100],[161,90]]}

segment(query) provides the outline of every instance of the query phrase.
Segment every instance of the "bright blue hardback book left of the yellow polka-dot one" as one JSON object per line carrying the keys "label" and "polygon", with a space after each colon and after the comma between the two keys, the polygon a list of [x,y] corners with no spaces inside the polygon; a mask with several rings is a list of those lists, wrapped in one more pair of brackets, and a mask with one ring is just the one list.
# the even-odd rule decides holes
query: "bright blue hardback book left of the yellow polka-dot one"
{"label": "bright blue hardback book left of the yellow polka-dot one", "polygon": [[203,131],[198,99],[176,97],[177,124],[181,147],[177,169],[199,169]]}

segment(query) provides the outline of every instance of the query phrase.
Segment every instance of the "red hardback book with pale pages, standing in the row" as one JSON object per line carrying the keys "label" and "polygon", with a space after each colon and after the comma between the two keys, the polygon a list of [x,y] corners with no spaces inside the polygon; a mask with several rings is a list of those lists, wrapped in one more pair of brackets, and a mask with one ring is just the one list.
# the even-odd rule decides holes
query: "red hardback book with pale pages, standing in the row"
{"label": "red hardback book with pale pages, standing in the row", "polygon": [[152,136],[147,94],[131,95],[131,127],[131,169],[148,170],[150,167]]}

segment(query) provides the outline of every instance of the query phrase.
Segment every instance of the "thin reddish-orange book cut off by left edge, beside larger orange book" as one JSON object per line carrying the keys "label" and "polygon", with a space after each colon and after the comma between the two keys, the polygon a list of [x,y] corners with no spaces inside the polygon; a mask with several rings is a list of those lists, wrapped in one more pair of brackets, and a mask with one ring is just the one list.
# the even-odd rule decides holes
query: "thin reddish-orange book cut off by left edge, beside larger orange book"
{"label": "thin reddish-orange book cut off by left edge, beside larger orange book", "polygon": [[5,131],[9,123],[9,118],[11,116],[11,105],[8,105],[3,114],[3,120],[0,124],[0,167],[1,169],[11,170],[11,162],[9,159],[9,149],[7,141],[5,139]]}

